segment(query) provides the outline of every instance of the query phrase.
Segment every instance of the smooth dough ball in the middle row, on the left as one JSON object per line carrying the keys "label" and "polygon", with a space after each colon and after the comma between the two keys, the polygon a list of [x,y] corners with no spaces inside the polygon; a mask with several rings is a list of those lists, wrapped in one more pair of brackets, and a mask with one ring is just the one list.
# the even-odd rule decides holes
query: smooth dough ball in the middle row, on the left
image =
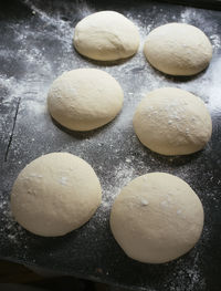
{"label": "smooth dough ball in the middle row, on the left", "polygon": [[118,82],[96,69],[63,73],[48,94],[53,118],[74,131],[91,131],[110,122],[122,110],[123,100]]}

